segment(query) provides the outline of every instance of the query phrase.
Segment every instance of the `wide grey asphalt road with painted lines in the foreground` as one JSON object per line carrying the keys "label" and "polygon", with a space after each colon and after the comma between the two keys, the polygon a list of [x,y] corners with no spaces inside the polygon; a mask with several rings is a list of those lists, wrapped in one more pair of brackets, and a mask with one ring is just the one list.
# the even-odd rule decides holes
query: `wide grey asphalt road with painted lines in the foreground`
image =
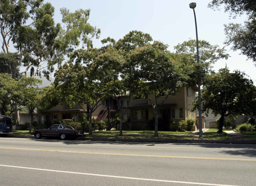
{"label": "wide grey asphalt road with painted lines in the foreground", "polygon": [[255,186],[256,145],[0,138],[0,186]]}

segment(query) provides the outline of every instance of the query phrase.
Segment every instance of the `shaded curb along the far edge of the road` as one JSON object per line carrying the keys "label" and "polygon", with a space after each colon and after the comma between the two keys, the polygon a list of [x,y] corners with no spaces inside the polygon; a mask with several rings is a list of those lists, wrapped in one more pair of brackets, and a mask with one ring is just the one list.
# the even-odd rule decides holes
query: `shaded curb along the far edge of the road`
{"label": "shaded curb along the far edge of the road", "polygon": [[[10,135],[9,138],[34,138],[35,136]],[[136,139],[136,138],[89,138],[79,137],[78,140],[110,141],[110,142],[155,142],[155,143],[219,143],[219,144],[256,144],[256,140],[207,140],[207,139]]]}

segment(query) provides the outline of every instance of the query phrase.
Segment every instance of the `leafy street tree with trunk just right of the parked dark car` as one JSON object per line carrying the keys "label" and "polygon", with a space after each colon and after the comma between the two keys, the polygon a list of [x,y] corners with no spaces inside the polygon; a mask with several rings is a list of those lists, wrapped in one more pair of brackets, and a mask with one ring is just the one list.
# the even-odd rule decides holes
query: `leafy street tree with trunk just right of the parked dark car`
{"label": "leafy street tree with trunk just right of the parked dark car", "polygon": [[[92,134],[92,113],[108,95],[103,83],[93,78],[95,76],[92,76],[90,67],[78,62],[79,58],[75,60],[75,64],[65,63],[56,71],[54,85],[62,101],[70,107],[77,104],[84,110],[88,116],[89,134]],[[85,108],[84,105],[87,107]]]}

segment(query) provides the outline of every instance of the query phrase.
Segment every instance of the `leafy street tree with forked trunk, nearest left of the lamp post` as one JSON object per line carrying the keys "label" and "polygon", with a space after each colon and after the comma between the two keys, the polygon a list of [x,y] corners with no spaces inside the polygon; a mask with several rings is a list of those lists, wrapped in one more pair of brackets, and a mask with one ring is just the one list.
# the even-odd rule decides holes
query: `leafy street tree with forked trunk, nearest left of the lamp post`
{"label": "leafy street tree with forked trunk, nearest left of the lamp post", "polygon": [[[154,41],[153,44],[137,48],[131,53],[134,61],[140,62],[140,92],[150,101],[155,115],[155,134],[158,136],[158,110],[172,93],[178,92],[179,87],[187,85],[188,75],[179,68],[179,63],[171,59],[168,46]],[[148,96],[149,95],[149,96]],[[153,99],[151,98],[153,95]],[[161,101],[160,97],[164,96]]]}

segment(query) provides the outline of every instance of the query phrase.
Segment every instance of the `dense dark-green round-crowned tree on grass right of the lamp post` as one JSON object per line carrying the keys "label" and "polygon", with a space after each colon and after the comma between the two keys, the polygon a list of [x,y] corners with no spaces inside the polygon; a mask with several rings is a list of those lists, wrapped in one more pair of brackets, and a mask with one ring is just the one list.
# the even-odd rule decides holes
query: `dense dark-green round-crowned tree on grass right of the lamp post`
{"label": "dense dark-green round-crowned tree on grass right of the lamp post", "polygon": [[222,68],[219,73],[209,75],[201,95],[202,112],[208,114],[209,109],[211,109],[215,116],[221,115],[218,133],[222,133],[226,116],[250,114],[253,111],[256,87],[251,79],[246,78],[244,72],[235,70],[230,73],[227,68]]}

